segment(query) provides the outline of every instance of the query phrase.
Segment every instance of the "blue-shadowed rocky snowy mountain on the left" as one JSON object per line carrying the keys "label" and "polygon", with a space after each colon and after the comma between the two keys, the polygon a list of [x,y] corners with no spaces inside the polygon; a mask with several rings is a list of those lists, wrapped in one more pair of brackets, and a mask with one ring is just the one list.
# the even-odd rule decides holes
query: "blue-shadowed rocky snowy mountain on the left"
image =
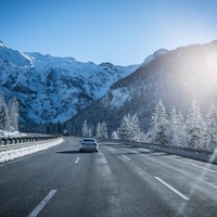
{"label": "blue-shadowed rocky snowy mountain on the left", "polygon": [[139,66],[21,52],[0,41],[0,93],[18,99],[23,124],[65,122]]}

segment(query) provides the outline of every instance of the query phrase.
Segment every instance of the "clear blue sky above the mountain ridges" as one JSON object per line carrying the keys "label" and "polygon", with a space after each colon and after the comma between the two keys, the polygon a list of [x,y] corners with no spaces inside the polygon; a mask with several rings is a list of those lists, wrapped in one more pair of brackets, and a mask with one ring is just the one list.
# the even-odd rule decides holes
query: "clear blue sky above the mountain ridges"
{"label": "clear blue sky above the mountain ridges", "polygon": [[0,40],[21,51],[115,65],[217,39],[216,0],[0,0]]}

